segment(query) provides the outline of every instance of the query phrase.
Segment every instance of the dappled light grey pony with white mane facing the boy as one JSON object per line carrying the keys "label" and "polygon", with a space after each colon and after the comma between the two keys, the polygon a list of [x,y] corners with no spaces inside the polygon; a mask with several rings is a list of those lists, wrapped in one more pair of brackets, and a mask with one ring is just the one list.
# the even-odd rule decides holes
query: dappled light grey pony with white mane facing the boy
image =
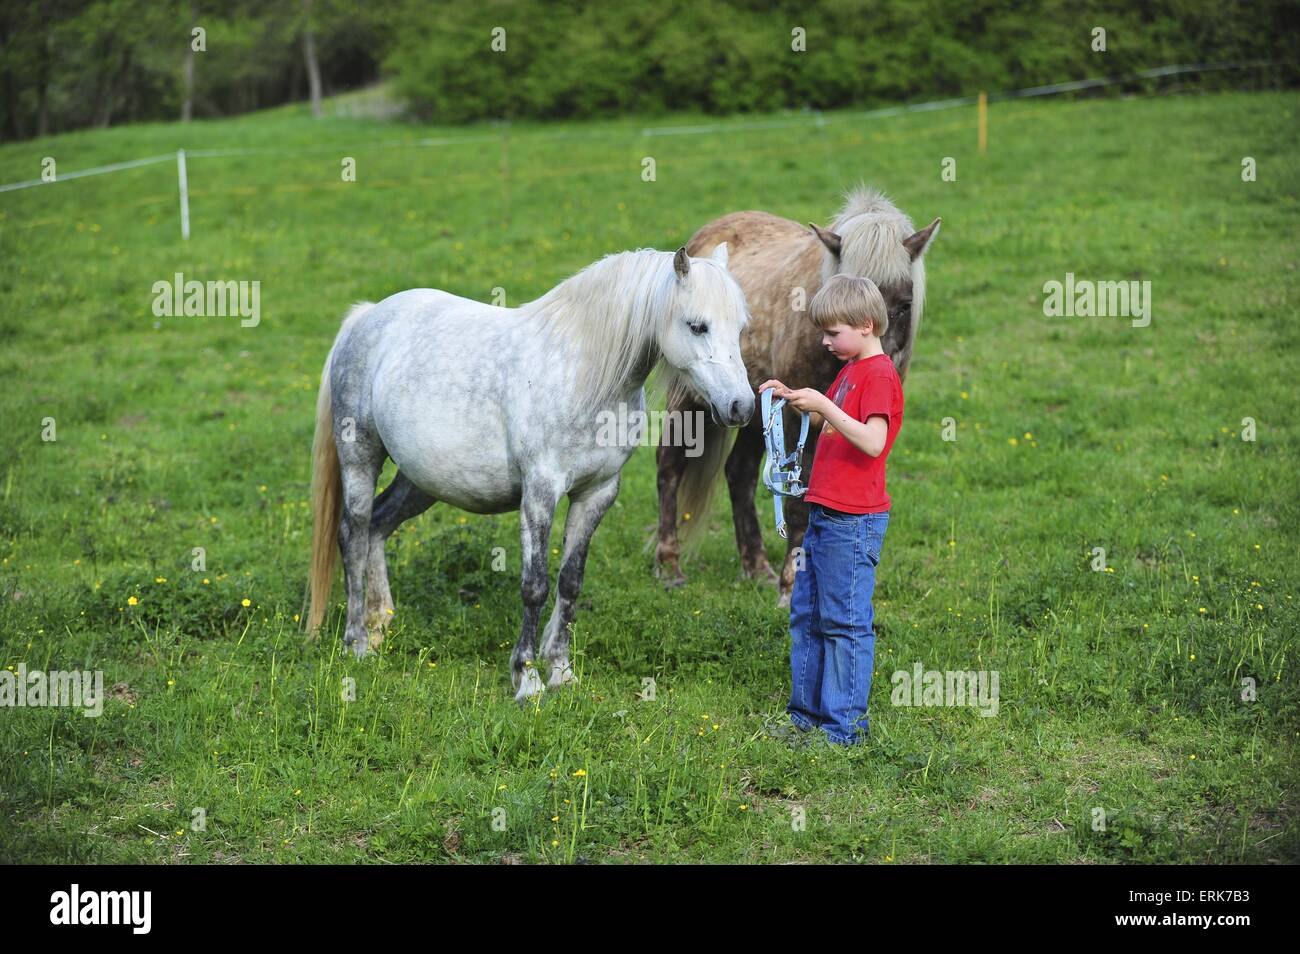
{"label": "dappled light grey pony with white mane facing the boy", "polygon": [[[610,255],[520,308],[412,289],[348,312],[325,360],[312,447],[311,612],[325,617],[335,535],[347,584],[343,642],[364,656],[393,615],[384,542],[442,500],[520,512],[524,624],[511,656],[515,698],[542,691],[537,620],[550,594],[555,508],[569,498],[559,595],[542,638],[550,685],[573,678],[569,624],[592,534],[619,493],[637,441],[598,439],[598,416],[644,412],[650,372],[705,395],[722,429],[754,412],[740,357],[749,321],[727,248],[711,259]],[[608,446],[608,445],[619,446]],[[398,465],[374,496],[386,458]]]}

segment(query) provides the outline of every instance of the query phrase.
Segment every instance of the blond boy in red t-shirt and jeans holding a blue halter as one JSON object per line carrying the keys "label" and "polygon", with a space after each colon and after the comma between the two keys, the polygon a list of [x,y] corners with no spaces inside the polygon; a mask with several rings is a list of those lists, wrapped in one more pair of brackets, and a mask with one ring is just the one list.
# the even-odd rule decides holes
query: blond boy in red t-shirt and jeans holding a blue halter
{"label": "blond boy in red t-shirt and jeans holding a blue halter", "polygon": [[797,411],[824,419],[803,500],[803,568],[790,597],[790,701],[805,732],[855,745],[868,732],[867,697],[876,636],[871,597],[889,522],[885,459],[902,426],[902,383],[880,346],[889,315],[866,278],[837,274],[812,298],[822,344],[846,361],[828,398],[811,387],[766,381]]}

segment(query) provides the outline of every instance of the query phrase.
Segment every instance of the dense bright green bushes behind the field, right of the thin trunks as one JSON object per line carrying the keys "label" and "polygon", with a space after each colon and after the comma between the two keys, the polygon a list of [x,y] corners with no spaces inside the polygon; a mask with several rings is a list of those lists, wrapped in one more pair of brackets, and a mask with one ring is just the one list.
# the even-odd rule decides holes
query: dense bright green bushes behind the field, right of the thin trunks
{"label": "dense bright green bushes behind the field, right of the thin trunks", "polygon": [[[1295,60],[1284,0],[722,0],[411,4],[386,65],[442,122],[627,112],[831,109],[971,95],[1175,62]],[[806,48],[792,49],[792,31]],[[1093,27],[1106,52],[1092,49]],[[494,31],[504,31],[495,49]],[[1262,77],[1262,78],[1261,78]],[[1296,68],[1253,82],[1295,83]],[[1239,82],[1234,77],[1234,82]],[[1209,74],[1196,81],[1214,84]]]}

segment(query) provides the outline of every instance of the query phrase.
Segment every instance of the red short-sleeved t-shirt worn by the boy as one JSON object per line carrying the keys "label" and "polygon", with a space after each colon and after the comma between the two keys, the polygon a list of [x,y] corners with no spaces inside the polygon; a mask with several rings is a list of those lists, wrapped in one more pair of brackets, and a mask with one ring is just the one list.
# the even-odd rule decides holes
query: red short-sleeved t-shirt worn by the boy
{"label": "red short-sleeved t-shirt worn by the boy", "polygon": [[812,476],[803,499],[846,513],[889,509],[885,458],[902,426],[902,382],[893,361],[888,355],[872,355],[846,363],[835,376],[827,395],[854,420],[866,422],[872,415],[884,415],[889,419],[889,430],[880,456],[872,458],[826,421],[818,437]]}

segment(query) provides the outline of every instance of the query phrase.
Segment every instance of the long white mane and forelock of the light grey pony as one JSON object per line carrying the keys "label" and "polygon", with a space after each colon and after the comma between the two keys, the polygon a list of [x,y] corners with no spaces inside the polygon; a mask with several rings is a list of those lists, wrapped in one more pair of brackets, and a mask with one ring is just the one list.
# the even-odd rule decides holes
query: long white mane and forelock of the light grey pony
{"label": "long white mane and forelock of the light grey pony", "polygon": [[[576,387],[584,403],[601,404],[616,396],[642,363],[659,368],[656,387],[685,386],[682,374],[662,361],[658,347],[659,331],[675,317],[679,295],[672,257],[672,252],[656,248],[615,252],[519,308],[547,334],[576,347],[581,356]],[[733,307],[729,283],[718,281],[723,270],[710,260],[690,263],[692,290],[702,316],[725,315]]]}

